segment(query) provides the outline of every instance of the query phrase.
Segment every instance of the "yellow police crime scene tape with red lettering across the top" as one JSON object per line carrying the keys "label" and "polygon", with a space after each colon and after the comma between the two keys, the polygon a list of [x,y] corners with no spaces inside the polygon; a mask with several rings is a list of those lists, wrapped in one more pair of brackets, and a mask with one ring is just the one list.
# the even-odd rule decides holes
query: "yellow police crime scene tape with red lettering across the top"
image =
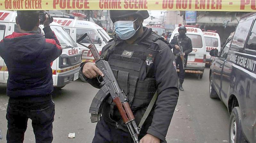
{"label": "yellow police crime scene tape with red lettering across the top", "polygon": [[256,0],[0,0],[0,10],[256,11]]}

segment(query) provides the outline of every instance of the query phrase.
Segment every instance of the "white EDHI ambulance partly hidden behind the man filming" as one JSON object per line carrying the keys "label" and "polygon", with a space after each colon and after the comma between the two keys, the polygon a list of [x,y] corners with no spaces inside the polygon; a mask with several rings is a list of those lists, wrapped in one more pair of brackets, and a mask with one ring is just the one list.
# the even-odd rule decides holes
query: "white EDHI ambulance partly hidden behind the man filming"
{"label": "white EDHI ambulance partly hidden behind the man filming", "polygon": [[[0,11],[0,40],[12,32],[18,32],[18,25],[15,23],[16,16],[16,11]],[[50,26],[62,46],[62,54],[51,63],[53,85],[61,89],[66,84],[78,79],[82,56],[76,42],[62,26],[55,22]],[[39,25],[38,30],[43,33],[43,28],[43,25]],[[8,70],[3,58],[0,57],[0,83],[6,84],[7,79]]]}

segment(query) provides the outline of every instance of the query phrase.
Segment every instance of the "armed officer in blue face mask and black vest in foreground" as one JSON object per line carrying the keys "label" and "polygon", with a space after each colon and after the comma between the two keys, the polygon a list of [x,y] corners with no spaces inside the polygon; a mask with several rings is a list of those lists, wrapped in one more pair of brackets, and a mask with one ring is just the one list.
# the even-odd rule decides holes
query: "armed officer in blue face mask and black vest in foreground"
{"label": "armed officer in blue face mask and black vest in foreground", "polygon": [[[147,11],[111,10],[110,17],[116,34],[103,47],[102,56],[109,62],[120,88],[128,97],[137,125],[154,93],[158,92],[153,109],[141,128],[140,143],[166,142],[179,93],[175,57],[169,43],[152,29],[142,26],[143,20],[149,17]],[[83,63],[81,71],[87,82],[101,88],[97,77],[104,75],[95,63]],[[111,96],[102,104],[102,119],[96,125],[92,142],[133,142]]]}

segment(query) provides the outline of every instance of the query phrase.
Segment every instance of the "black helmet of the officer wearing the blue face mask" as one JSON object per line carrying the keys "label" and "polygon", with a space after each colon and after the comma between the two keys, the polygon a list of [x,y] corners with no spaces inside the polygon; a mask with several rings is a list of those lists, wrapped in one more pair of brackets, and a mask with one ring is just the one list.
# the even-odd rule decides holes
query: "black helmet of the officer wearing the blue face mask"
{"label": "black helmet of the officer wearing the blue face mask", "polygon": [[128,17],[128,16],[138,16],[143,19],[146,19],[149,17],[148,11],[133,11],[133,10],[110,10],[110,18],[112,22],[115,22],[115,19]]}

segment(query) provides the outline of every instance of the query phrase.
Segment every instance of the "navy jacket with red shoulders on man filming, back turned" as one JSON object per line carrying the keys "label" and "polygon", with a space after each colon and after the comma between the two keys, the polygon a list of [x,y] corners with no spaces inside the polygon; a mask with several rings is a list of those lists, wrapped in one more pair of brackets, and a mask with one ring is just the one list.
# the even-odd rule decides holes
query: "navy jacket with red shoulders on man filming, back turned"
{"label": "navy jacket with red shoulders on man filming, back turned", "polygon": [[62,48],[50,27],[43,30],[45,36],[38,32],[13,32],[1,41],[0,55],[9,72],[9,97],[38,97],[53,91],[50,64],[62,53]]}

